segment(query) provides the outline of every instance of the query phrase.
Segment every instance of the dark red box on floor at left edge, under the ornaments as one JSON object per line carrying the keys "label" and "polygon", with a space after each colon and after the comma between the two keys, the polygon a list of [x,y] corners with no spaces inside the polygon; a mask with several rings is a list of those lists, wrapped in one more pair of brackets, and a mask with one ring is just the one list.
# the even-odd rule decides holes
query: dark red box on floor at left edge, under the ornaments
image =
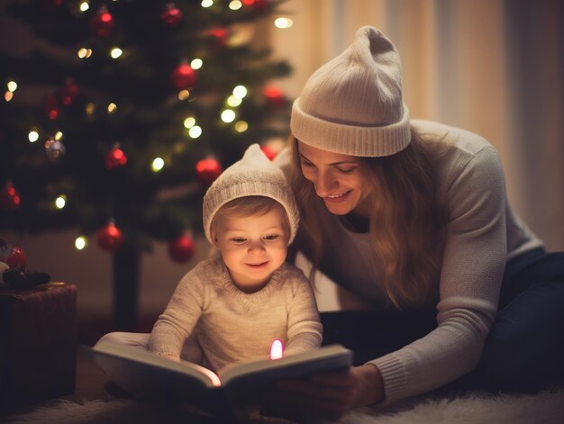
{"label": "dark red box on floor at left edge, under the ornaments", "polygon": [[75,284],[0,287],[0,410],[75,391],[76,314]]}

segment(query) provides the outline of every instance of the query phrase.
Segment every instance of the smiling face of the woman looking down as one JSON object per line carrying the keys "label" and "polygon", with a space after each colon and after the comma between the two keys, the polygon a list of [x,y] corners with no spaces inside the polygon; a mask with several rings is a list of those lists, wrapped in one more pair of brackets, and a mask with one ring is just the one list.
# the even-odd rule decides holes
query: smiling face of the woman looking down
{"label": "smiling face of the woman looking down", "polygon": [[317,149],[299,140],[297,150],[302,173],[314,183],[315,193],[329,212],[369,215],[368,189],[360,174],[358,158]]}

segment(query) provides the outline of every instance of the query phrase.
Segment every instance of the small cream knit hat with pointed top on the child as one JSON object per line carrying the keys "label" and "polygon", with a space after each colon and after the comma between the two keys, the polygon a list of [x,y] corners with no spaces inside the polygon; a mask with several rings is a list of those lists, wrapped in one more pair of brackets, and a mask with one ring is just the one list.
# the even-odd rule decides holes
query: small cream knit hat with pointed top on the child
{"label": "small cream knit hat with pointed top on the child", "polygon": [[215,213],[225,203],[240,197],[259,195],[280,203],[290,222],[288,245],[296,237],[300,215],[292,188],[279,167],[266,157],[258,144],[252,144],[238,162],[225,169],[204,196],[204,232],[214,244],[211,225]]}

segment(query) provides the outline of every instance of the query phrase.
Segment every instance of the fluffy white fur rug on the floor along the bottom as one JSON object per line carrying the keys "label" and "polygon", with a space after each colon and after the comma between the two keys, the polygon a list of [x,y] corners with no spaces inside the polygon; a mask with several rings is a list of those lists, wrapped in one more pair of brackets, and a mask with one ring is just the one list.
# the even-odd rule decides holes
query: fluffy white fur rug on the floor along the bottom
{"label": "fluffy white fur rug on the floor along the bottom", "polygon": [[[181,413],[179,413],[181,412]],[[176,423],[209,422],[189,411],[129,400],[58,401],[33,412],[16,415],[6,424],[58,423]],[[287,423],[283,419],[250,419],[250,423]],[[454,399],[422,397],[386,409],[363,408],[350,412],[343,424],[562,424],[564,388],[533,395],[472,393]]]}

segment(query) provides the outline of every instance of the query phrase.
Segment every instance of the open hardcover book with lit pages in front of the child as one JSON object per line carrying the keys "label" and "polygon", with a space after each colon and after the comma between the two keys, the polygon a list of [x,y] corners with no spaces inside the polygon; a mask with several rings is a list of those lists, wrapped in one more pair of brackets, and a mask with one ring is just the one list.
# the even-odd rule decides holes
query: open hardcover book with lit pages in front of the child
{"label": "open hardcover book with lit pages in front of the child", "polygon": [[346,369],[352,363],[350,350],[332,345],[280,359],[232,365],[218,375],[204,366],[175,362],[134,347],[103,342],[85,348],[105,374],[132,395],[187,401],[206,410],[217,408],[218,401],[259,401],[259,394],[277,380]]}

